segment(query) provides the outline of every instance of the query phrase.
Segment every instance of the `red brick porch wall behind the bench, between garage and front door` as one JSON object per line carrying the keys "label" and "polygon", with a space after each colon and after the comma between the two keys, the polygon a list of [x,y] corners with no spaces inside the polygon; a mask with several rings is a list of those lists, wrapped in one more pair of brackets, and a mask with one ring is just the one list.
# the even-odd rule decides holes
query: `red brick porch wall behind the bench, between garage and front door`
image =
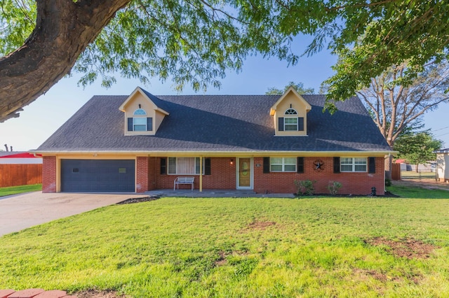
{"label": "red brick porch wall behind the bench, between garage and front door", "polygon": [[[231,164],[231,159],[233,164]],[[167,160],[168,162],[168,160]],[[155,165],[155,166],[153,166]],[[168,166],[168,164],[167,164]],[[154,169],[154,174],[149,175],[149,185],[154,185],[153,189],[173,188],[173,181],[180,175],[161,175],[161,158],[157,157],[150,160],[150,168]],[[204,190],[235,190],[236,188],[236,159],[229,157],[211,157],[210,175],[203,175]],[[168,171],[168,168],[167,168]],[[199,189],[199,175],[194,176],[196,190]],[[190,185],[180,185],[180,188],[189,188]]]}

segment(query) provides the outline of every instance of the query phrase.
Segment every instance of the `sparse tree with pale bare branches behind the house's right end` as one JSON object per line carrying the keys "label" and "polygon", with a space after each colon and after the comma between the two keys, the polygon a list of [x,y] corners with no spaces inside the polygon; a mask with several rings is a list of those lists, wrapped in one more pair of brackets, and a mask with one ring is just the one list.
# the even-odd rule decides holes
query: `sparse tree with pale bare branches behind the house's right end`
{"label": "sparse tree with pale bare branches behind the house's right end", "polygon": [[406,63],[391,66],[357,92],[391,147],[403,132],[420,128],[424,113],[449,103],[446,60],[424,66],[415,78],[408,79],[407,71]]}

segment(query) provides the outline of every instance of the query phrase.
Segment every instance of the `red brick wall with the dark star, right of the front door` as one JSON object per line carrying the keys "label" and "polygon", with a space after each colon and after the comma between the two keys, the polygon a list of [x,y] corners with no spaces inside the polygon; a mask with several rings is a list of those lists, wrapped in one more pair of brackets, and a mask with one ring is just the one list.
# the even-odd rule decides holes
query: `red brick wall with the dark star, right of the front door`
{"label": "red brick wall with the dark star, right of the front door", "polygon": [[[323,171],[314,170],[314,160],[324,162]],[[263,164],[262,157],[255,157],[254,164]],[[342,183],[339,194],[370,194],[376,187],[377,194],[384,194],[384,158],[376,157],[376,173],[333,173],[333,157],[304,157],[304,173],[263,173],[263,166],[254,168],[254,191],[257,193],[295,193],[295,180],[316,180],[316,194],[328,194],[332,181]]]}

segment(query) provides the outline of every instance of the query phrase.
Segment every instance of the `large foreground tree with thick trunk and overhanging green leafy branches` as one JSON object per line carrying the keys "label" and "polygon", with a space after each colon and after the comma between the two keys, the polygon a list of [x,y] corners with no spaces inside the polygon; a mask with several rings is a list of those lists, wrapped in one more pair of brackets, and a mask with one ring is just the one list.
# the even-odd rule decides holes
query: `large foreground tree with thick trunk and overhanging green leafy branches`
{"label": "large foreground tree with thick trunk and overhanging green leafy branches", "polygon": [[[402,0],[2,0],[0,121],[72,69],[82,84],[114,73],[182,88],[218,87],[248,55],[297,63],[325,47],[340,55],[329,98],[343,100],[391,65],[406,78],[447,55],[447,1]],[[298,34],[314,36],[305,52]]]}

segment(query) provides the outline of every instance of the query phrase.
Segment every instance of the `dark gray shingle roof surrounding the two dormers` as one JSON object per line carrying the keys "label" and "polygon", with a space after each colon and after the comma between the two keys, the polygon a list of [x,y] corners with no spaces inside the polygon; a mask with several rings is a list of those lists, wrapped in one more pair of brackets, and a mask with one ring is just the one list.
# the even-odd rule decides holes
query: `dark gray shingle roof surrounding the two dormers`
{"label": "dark gray shingle roof surrounding the two dormers", "polygon": [[170,115],[155,136],[125,136],[119,106],[127,96],[94,96],[37,151],[386,151],[360,99],[323,113],[323,95],[304,95],[308,136],[274,136],[275,95],[147,95]]}

